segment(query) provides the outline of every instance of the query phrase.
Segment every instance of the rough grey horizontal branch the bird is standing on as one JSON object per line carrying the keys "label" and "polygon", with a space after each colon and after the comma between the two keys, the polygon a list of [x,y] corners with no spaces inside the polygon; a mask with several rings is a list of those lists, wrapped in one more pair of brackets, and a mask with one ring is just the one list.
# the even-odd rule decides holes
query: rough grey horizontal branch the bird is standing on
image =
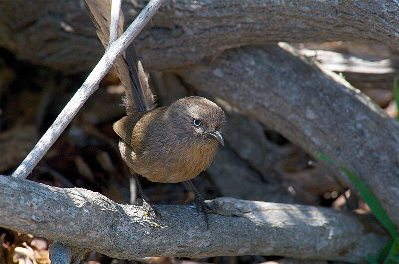
{"label": "rough grey horizontal branch the bird is standing on", "polygon": [[209,230],[190,206],[158,205],[163,228],[156,228],[140,206],[89,190],[9,176],[0,184],[1,227],[119,259],[278,255],[362,263],[388,241],[373,219],[328,208],[218,198]]}

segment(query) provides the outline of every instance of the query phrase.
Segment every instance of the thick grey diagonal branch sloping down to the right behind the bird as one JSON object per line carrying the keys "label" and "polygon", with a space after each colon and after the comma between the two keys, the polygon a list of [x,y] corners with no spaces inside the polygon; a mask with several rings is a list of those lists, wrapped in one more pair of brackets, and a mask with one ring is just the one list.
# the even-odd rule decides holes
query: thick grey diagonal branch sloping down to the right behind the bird
{"label": "thick grey diagonal branch sloping down to the right behind the bird", "polygon": [[[323,152],[355,172],[398,228],[399,123],[347,82],[277,45],[226,51],[209,66],[177,73],[309,154]],[[321,164],[347,179],[337,167]]]}

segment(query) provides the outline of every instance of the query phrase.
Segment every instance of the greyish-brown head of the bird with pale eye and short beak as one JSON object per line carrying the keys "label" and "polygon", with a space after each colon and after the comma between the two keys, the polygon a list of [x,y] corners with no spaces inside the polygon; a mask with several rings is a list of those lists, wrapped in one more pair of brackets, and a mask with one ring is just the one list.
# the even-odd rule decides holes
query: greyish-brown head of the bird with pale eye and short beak
{"label": "greyish-brown head of the bird with pale eye and short beak", "polygon": [[171,109],[173,118],[178,120],[176,124],[181,126],[183,138],[224,145],[222,130],[226,118],[218,105],[200,96],[190,96],[174,102]]}

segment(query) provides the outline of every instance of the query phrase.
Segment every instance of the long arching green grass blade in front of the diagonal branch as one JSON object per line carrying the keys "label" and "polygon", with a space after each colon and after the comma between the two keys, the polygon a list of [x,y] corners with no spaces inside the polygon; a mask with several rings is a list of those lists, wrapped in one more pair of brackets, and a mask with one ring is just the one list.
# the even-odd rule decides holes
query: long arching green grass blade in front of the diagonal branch
{"label": "long arching green grass blade in front of the diagonal branch", "polygon": [[364,184],[355,173],[353,173],[352,171],[343,166],[340,166],[339,164],[337,164],[337,162],[327,157],[323,153],[316,152],[316,155],[319,158],[330,162],[331,164],[337,165],[347,174],[351,182],[356,186],[356,188],[358,188],[360,195],[362,195],[362,198],[369,205],[370,209],[373,211],[378,221],[380,221],[380,223],[388,230],[388,232],[392,235],[393,238],[397,239],[399,235],[398,232],[396,231],[394,223],[392,223],[392,221],[389,219],[384,208],[381,206],[380,201],[373,194],[373,192],[366,186],[366,184]]}

